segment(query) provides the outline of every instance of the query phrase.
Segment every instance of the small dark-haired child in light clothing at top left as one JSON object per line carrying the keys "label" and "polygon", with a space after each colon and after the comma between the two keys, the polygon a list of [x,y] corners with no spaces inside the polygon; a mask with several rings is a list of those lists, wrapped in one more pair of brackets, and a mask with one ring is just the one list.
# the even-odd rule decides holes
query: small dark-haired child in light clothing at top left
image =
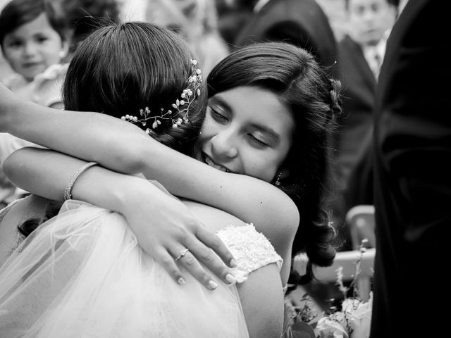
{"label": "small dark-haired child in light clothing at top left", "polygon": [[[0,13],[1,51],[13,73],[2,82],[23,99],[62,108],[67,27],[46,0],[12,0]],[[58,82],[59,81],[59,82]]]}

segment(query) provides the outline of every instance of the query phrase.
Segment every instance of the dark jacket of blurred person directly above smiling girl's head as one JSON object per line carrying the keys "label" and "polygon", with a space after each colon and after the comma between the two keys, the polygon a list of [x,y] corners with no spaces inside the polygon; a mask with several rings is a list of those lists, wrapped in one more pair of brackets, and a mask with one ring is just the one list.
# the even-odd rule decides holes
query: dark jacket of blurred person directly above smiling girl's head
{"label": "dark jacket of blurred person directly above smiling girl's head", "polygon": [[261,41],[301,46],[317,56],[322,65],[333,66],[337,58],[328,18],[314,0],[268,1],[237,35],[235,46]]}

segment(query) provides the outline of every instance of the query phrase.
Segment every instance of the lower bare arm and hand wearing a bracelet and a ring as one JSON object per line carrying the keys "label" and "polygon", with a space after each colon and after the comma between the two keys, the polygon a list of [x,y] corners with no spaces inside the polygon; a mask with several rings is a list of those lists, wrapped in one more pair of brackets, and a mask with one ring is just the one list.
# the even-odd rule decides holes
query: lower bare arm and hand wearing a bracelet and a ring
{"label": "lower bare arm and hand wearing a bracelet and a ring", "polygon": [[[25,163],[21,162],[24,158]],[[17,177],[24,178],[20,184],[23,189],[62,201],[64,189],[61,187],[68,184],[73,173],[84,163],[78,158],[55,151],[28,147],[19,149],[7,158],[4,169],[15,184]],[[173,258],[187,247],[190,253],[183,263],[199,282],[211,289],[211,276],[194,256],[227,282],[226,275],[230,270],[209,249],[214,249],[223,261],[230,262],[233,256],[226,246],[194,218],[185,204],[149,181],[95,166],[80,175],[73,187],[73,196],[123,213],[140,246],[156,258],[174,280],[178,281],[183,275]]]}

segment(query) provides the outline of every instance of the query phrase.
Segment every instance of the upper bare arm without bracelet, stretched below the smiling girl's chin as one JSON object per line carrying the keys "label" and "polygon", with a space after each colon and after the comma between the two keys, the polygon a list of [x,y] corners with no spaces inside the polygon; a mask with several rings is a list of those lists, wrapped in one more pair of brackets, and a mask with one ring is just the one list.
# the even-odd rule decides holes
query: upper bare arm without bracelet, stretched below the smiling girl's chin
{"label": "upper bare arm without bracelet, stretched below the smiling girl's chin", "polygon": [[132,123],[37,106],[5,87],[0,87],[0,118],[5,132],[120,173],[144,173],[172,194],[254,223],[284,258],[290,251],[287,239],[294,237],[299,214],[292,200],[271,184],[211,168],[156,142]]}

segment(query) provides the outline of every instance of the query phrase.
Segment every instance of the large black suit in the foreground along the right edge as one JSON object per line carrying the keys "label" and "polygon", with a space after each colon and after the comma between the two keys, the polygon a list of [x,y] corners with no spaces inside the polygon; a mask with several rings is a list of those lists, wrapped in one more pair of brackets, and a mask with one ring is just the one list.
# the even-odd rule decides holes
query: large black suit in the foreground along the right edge
{"label": "large black suit in the foreground along the right edge", "polygon": [[388,39],[379,76],[371,338],[444,337],[447,332],[450,280],[443,272],[450,267],[451,227],[449,15],[450,1],[409,0]]}

